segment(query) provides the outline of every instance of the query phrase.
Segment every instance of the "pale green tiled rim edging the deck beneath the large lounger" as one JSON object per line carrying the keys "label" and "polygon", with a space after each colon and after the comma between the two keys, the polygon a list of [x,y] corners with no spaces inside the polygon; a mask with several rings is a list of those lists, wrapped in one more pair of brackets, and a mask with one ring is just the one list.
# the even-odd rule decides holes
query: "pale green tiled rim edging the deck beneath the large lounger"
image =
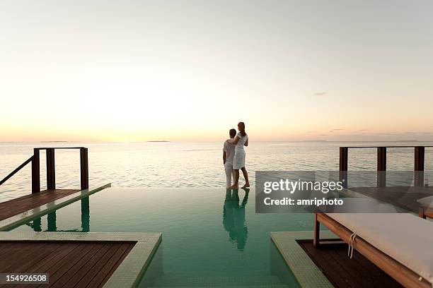
{"label": "pale green tiled rim edging the deck beneath the large lounger", "polygon": [[[334,287],[296,242],[296,240],[313,239],[312,231],[271,232],[270,236],[301,287]],[[330,231],[321,231],[321,236],[328,239],[336,238]]]}

